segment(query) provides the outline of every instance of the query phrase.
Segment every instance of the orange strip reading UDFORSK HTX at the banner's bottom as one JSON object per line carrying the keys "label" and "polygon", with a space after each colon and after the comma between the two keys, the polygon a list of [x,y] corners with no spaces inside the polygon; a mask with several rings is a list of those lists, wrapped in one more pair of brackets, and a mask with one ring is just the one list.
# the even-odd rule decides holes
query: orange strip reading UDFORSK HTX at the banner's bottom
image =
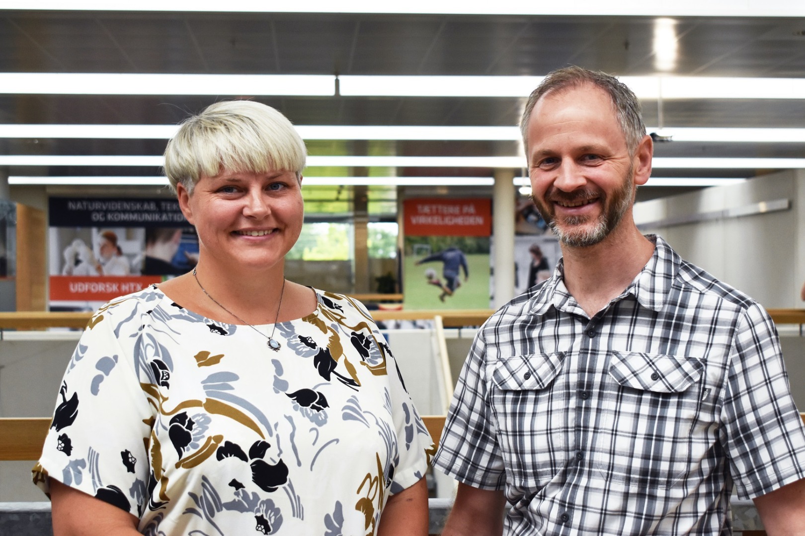
{"label": "orange strip reading UDFORSK HTX at the banner's bottom", "polygon": [[51,301],[109,301],[135,293],[161,276],[51,276]]}

